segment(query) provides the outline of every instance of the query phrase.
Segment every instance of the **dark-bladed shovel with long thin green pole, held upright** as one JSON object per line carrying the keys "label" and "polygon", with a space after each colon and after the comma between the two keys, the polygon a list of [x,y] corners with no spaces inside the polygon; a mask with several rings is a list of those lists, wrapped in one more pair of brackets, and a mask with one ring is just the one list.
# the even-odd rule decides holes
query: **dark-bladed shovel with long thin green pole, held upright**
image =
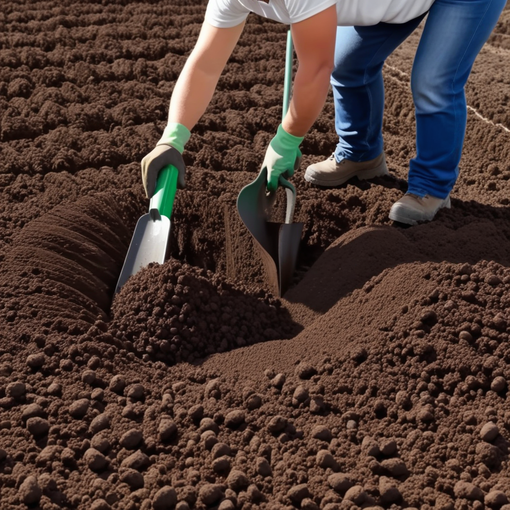
{"label": "dark-bladed shovel with long thin green pole, held upright", "polygon": [[[289,109],[292,87],[293,44],[290,30],[287,33],[285,81],[282,120]],[[287,211],[285,223],[268,221],[268,210],[276,199],[275,192],[267,192],[267,168],[262,168],[256,180],[247,184],[237,197],[237,211],[259,247],[271,287],[279,297],[292,283],[296,266],[303,223],[293,223],[296,190],[281,175],[279,186],[285,188]]]}

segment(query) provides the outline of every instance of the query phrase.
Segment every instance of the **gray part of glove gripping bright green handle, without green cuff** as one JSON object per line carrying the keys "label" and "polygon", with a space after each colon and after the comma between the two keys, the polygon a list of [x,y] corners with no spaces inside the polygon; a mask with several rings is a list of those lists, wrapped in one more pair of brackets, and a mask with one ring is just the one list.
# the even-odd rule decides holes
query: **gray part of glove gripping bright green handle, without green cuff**
{"label": "gray part of glove gripping bright green handle, without green cuff", "polygon": [[154,195],[158,174],[167,165],[173,165],[179,170],[177,188],[183,189],[186,187],[186,166],[181,152],[171,145],[160,143],[142,159],[142,181],[147,198]]}

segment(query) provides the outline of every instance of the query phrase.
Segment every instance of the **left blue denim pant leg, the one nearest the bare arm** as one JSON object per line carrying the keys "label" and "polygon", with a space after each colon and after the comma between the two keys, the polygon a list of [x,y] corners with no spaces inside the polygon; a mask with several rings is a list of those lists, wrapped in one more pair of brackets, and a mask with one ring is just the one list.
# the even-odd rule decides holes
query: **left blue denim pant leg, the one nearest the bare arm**
{"label": "left blue denim pant leg, the one nearest the bare arm", "polygon": [[335,70],[331,74],[335,128],[339,136],[335,150],[338,162],[344,158],[368,161],[382,152],[382,66],[424,16],[406,23],[338,27]]}

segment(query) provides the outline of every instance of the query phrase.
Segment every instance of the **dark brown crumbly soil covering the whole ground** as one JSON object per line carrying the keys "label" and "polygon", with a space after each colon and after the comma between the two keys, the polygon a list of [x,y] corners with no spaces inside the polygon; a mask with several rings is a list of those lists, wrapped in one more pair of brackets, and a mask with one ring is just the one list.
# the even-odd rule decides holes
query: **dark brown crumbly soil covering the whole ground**
{"label": "dark brown crumbly soil covering the whole ground", "polygon": [[0,508],[510,509],[510,8],[431,223],[388,219],[420,29],[384,68],[388,177],[304,182],[335,145],[328,98],[283,298],[236,210],[282,108],[287,27],[250,17],[186,147],[169,258],[113,296],[205,6],[2,3]]}

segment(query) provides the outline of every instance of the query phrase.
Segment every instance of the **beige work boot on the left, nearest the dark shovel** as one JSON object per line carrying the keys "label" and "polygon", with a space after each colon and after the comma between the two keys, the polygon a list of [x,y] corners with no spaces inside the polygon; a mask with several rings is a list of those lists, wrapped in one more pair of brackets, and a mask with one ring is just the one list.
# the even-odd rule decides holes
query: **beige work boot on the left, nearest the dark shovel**
{"label": "beige work boot on the left, nearest the dark shovel", "polygon": [[333,153],[327,160],[310,165],[304,172],[304,179],[319,186],[339,186],[354,176],[365,180],[387,174],[388,167],[384,152],[381,152],[377,158],[359,163],[346,159],[337,163]]}

